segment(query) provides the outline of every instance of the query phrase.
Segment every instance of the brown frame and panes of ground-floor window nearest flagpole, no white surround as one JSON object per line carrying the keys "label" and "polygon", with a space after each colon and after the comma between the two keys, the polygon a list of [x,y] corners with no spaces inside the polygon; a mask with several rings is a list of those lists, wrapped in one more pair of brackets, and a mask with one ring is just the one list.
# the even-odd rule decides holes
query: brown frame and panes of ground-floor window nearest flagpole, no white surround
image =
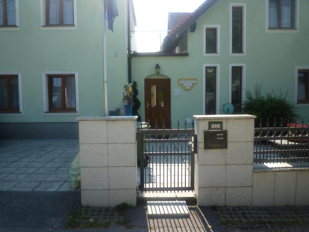
{"label": "brown frame and panes of ground-floor window nearest flagpole, no white surround", "polygon": [[49,111],[76,111],[75,76],[49,75]]}

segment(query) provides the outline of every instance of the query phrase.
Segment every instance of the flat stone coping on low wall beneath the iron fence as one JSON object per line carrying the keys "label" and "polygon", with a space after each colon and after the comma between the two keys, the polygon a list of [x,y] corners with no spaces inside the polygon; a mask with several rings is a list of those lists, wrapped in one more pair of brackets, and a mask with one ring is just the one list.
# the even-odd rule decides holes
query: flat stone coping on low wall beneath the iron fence
{"label": "flat stone coping on low wall beneath the iron fence", "polygon": [[253,164],[253,172],[309,171],[308,163]]}

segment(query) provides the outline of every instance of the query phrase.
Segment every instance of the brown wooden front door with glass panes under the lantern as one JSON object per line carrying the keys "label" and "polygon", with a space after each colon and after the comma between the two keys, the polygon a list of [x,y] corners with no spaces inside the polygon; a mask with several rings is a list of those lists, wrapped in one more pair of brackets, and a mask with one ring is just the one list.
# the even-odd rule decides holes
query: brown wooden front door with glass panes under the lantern
{"label": "brown wooden front door with glass panes under the lantern", "polygon": [[150,128],[170,128],[171,120],[171,80],[145,79],[145,119],[150,121]]}

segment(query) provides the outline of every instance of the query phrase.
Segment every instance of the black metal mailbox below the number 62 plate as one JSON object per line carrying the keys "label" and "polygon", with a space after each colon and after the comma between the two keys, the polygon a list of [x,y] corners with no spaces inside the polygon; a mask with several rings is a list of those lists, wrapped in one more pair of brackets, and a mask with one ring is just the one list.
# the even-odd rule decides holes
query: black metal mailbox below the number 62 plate
{"label": "black metal mailbox below the number 62 plate", "polygon": [[204,149],[227,148],[227,131],[204,131]]}

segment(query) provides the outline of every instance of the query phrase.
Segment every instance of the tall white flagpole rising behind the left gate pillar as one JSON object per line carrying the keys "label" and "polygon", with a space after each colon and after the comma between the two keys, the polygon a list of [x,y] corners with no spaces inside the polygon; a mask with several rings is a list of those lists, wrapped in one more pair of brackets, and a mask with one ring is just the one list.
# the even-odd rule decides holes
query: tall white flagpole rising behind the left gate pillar
{"label": "tall white flagpole rising behind the left gate pillar", "polygon": [[105,116],[108,116],[107,107],[107,72],[106,72],[106,27],[105,27],[105,9],[104,0],[102,0],[102,42],[103,42],[103,78],[104,78],[104,107]]}

